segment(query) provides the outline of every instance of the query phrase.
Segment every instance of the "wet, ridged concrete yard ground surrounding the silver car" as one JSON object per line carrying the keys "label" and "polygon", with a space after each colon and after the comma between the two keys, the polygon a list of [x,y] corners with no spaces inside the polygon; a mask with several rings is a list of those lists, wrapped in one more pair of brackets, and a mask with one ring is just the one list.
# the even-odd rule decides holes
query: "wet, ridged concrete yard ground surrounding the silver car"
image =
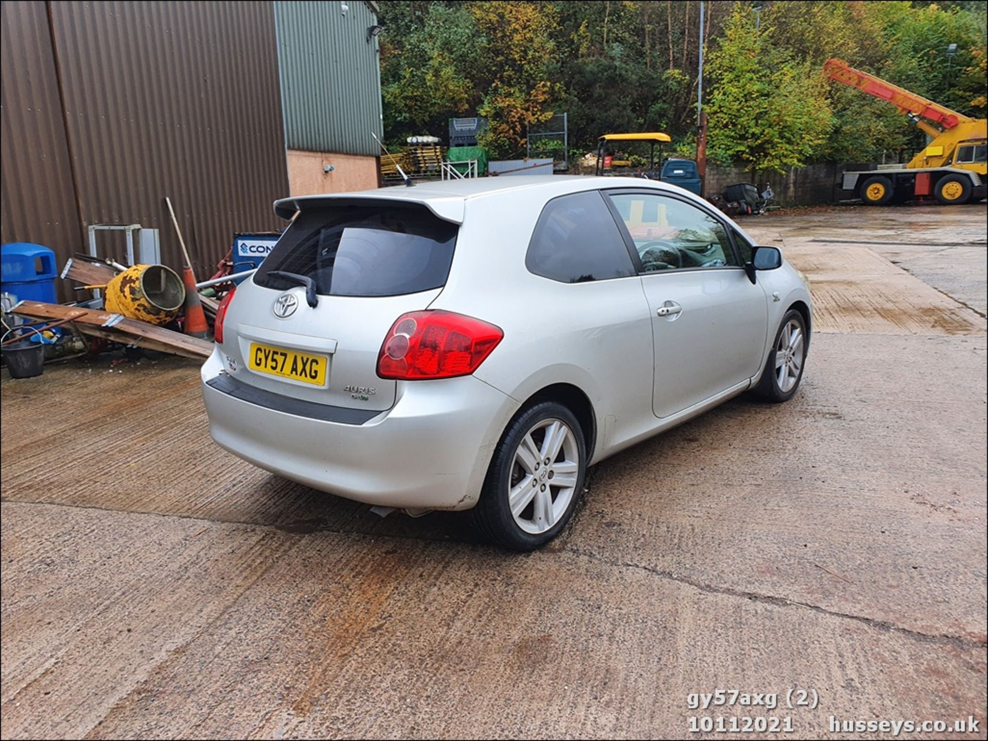
{"label": "wet, ridged concrete yard ground surrounding the silver car", "polygon": [[3,737],[983,737],[985,210],[745,226],[812,280],[800,393],[602,463],[531,555],[225,454],[194,363],[5,377]]}

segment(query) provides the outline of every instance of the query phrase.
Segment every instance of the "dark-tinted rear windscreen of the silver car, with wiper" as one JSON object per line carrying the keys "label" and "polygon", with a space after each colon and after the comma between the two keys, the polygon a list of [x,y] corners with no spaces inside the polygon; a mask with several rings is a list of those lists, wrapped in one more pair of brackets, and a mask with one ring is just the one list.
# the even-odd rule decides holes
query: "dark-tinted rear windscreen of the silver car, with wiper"
{"label": "dark-tinted rear windscreen of the silver car, with wiper", "polygon": [[308,208],[261,263],[254,282],[287,291],[312,278],[324,296],[399,296],[446,285],[458,227],[418,205]]}

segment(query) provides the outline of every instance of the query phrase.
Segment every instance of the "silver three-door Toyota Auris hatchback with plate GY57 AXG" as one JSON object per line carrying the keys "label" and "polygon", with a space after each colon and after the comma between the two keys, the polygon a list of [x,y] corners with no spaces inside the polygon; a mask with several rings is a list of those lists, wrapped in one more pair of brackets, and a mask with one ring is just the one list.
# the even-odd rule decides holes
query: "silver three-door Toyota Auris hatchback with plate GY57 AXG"
{"label": "silver three-door Toyota Auris hatchback with plate GY57 AXG", "polygon": [[287,198],[216,316],[213,439],[530,550],[587,467],[752,391],[799,386],[812,322],[774,247],[673,185],[502,177]]}

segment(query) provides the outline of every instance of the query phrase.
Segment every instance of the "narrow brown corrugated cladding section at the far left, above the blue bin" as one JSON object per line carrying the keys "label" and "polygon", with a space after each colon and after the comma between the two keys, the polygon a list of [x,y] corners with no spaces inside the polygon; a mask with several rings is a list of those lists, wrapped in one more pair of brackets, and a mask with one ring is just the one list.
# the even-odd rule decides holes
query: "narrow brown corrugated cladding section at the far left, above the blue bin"
{"label": "narrow brown corrugated cladding section at the far left, above the blue bin", "polygon": [[61,264],[82,229],[44,3],[0,4],[0,28],[0,240],[45,245]]}

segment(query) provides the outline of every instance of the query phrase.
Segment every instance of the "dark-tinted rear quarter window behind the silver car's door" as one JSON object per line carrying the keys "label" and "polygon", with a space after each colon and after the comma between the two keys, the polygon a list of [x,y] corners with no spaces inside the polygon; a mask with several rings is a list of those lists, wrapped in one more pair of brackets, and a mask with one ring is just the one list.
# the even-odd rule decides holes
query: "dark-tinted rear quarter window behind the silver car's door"
{"label": "dark-tinted rear quarter window behind the silver car's door", "polygon": [[635,274],[614,217],[598,190],[563,195],[545,204],[525,266],[535,275],[563,283]]}

